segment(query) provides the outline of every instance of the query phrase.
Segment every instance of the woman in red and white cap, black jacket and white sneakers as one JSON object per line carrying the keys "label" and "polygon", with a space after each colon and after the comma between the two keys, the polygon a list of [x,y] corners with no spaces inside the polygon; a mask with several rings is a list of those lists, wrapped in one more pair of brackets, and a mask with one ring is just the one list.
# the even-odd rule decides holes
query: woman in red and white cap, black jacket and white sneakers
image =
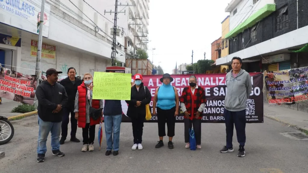
{"label": "woman in red and white cap, black jacket and white sneakers", "polygon": [[132,150],[142,150],[142,132],[143,123],[146,115],[145,105],[151,102],[151,93],[148,87],[142,83],[142,75],[135,74],[134,83],[131,89],[131,100],[126,100],[128,103],[127,116],[132,119],[134,145]]}

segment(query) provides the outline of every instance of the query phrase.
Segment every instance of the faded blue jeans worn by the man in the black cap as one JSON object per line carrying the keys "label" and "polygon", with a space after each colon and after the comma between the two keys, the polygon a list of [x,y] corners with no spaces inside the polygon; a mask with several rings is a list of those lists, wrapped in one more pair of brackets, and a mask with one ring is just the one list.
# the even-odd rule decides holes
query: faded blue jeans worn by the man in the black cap
{"label": "faded blue jeans worn by the man in the black cap", "polygon": [[51,150],[57,151],[60,150],[60,134],[61,134],[61,124],[43,121],[38,117],[39,123],[39,139],[38,139],[38,154],[45,154],[47,151],[46,142],[49,132],[51,133]]}

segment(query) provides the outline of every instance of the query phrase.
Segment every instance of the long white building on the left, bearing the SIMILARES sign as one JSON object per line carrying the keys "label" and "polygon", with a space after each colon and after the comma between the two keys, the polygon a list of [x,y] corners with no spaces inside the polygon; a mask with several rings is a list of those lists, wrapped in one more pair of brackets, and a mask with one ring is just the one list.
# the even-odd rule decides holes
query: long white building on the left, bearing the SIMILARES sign
{"label": "long white building on the left, bearing the SIMILARES sign", "polygon": [[[71,2],[70,2],[71,1]],[[71,66],[77,74],[105,71],[111,66],[111,28],[113,27],[114,1],[108,0],[70,0],[45,2],[43,26],[43,50],[41,70],[56,68],[66,73]],[[116,56],[118,62],[125,62],[129,37],[128,22],[131,14],[142,15],[144,30],[148,32],[148,0],[136,0],[138,6],[119,6],[117,25],[120,36],[117,37]],[[25,74],[34,74],[37,51],[37,22],[41,11],[40,0],[23,0],[19,3],[0,1],[0,63]],[[126,1],[119,0],[123,4]],[[135,1],[130,1],[131,5]],[[24,6],[28,8],[24,8]],[[30,9],[30,10],[29,10]],[[137,10],[136,10],[137,9]],[[147,9],[144,12],[141,9]],[[104,14],[106,10],[106,14]],[[139,17],[138,17],[139,18]],[[140,16],[141,18],[141,16]],[[146,26],[146,27],[145,27]],[[139,27],[138,28],[140,31]],[[136,36],[144,33],[135,32]],[[133,37],[132,37],[133,38]],[[136,37],[136,44],[142,42]],[[134,41],[134,40],[132,40]],[[128,46],[129,47],[129,46]],[[13,66],[13,67],[11,67]],[[18,67],[18,68],[17,68]]]}

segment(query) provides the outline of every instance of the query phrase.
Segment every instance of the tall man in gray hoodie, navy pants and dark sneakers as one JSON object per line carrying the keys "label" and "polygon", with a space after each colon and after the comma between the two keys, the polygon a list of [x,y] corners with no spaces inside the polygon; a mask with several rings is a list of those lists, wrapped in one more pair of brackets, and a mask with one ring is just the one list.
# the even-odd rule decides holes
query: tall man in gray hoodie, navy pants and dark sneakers
{"label": "tall man in gray hoodie, navy pants and dark sneakers", "polygon": [[[225,124],[227,145],[220,152],[233,152],[232,138],[235,125],[237,142],[240,143],[238,157],[245,156],[245,127],[246,127],[246,101],[252,91],[251,77],[248,72],[241,69],[242,59],[233,57],[232,70],[226,75],[227,93],[225,96]],[[234,125],[233,125],[234,124]]]}

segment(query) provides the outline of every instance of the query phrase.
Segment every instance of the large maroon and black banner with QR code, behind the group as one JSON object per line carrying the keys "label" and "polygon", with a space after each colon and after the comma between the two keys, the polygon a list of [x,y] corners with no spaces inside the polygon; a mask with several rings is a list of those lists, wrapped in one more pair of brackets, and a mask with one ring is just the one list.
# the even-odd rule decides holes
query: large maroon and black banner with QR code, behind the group
{"label": "large maroon and black banner with QR code, behind the group", "polygon": [[[252,92],[246,103],[246,122],[247,123],[263,123],[263,74],[249,73],[252,81]],[[171,75],[174,78],[172,86],[175,86],[179,96],[181,96],[184,87],[188,86],[188,78],[190,75]],[[202,115],[203,123],[224,123],[224,106],[225,106],[225,76],[226,74],[196,74],[198,86],[202,86],[206,95],[206,106]],[[160,75],[143,76],[142,82],[151,92],[152,100],[155,90],[161,85]],[[122,122],[131,122],[131,119],[126,116],[127,103],[122,100],[123,117]],[[150,103],[152,111],[153,101]],[[183,112],[179,111],[179,116],[176,117],[176,122],[183,122]],[[152,119],[146,122],[157,122],[157,117],[152,116]]]}

